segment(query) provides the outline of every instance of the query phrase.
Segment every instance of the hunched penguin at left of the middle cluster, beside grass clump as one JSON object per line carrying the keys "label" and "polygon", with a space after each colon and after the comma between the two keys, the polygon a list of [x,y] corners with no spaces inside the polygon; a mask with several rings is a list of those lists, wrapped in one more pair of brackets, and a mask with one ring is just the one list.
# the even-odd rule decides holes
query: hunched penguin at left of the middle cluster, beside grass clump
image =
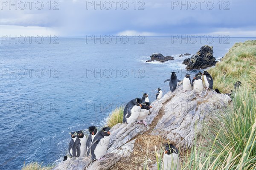
{"label": "hunched penguin at left of the middle cluster, beside grass clump", "polygon": [[[144,96],[144,95],[143,95]],[[132,99],[127,103],[124,109],[123,123],[130,123],[132,120],[136,120],[140,115],[141,103],[143,99]],[[144,99],[145,101],[145,99]]]}

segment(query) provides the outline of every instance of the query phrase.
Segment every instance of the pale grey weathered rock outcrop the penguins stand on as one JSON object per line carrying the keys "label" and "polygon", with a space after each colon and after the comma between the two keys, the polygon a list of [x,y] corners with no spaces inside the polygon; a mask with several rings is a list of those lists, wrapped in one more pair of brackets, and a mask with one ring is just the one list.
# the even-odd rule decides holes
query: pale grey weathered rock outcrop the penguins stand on
{"label": "pale grey weathered rock outcrop the penguins stand on", "polygon": [[111,143],[105,160],[92,162],[91,157],[72,158],[61,162],[54,170],[108,170],[120,159],[128,158],[134,150],[137,136],[145,133],[164,136],[179,148],[191,147],[195,136],[204,132],[203,124],[215,119],[215,111],[227,105],[224,94],[208,90],[201,96],[193,90],[184,92],[181,86],[173,93],[169,91],[160,100],[152,102],[151,114],[146,119],[147,127],[131,122],[111,128]]}

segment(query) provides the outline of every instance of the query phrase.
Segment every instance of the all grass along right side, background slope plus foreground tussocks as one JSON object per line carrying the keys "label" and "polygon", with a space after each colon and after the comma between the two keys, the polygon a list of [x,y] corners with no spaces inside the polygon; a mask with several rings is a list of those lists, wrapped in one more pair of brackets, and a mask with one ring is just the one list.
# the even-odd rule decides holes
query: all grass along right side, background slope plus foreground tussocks
{"label": "all grass along right side, background slope plus foreground tussocks", "polygon": [[[230,92],[236,81],[242,85],[232,104],[216,114],[203,141],[195,140],[186,154],[183,170],[256,169],[256,41],[236,43],[209,73],[214,88]],[[214,114],[214,113],[213,113]]]}

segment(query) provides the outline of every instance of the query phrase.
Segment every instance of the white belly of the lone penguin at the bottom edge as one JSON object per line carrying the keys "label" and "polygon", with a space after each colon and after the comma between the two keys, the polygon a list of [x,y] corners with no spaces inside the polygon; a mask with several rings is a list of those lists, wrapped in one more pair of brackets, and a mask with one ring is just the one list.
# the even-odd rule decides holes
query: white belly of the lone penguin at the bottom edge
{"label": "white belly of the lone penguin at the bottom edge", "polygon": [[181,170],[180,158],[178,154],[163,155],[163,170]]}

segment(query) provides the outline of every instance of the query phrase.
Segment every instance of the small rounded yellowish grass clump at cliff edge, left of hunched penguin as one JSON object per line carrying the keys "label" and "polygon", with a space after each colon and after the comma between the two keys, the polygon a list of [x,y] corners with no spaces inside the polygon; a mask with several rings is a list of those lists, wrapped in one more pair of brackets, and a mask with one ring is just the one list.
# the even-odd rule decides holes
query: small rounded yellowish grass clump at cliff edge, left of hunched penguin
{"label": "small rounded yellowish grass clump at cliff edge, left of hunched penguin", "polygon": [[113,127],[114,125],[118,123],[122,123],[124,114],[124,108],[121,106],[119,108],[116,108],[112,113],[108,116],[107,125],[109,127]]}

